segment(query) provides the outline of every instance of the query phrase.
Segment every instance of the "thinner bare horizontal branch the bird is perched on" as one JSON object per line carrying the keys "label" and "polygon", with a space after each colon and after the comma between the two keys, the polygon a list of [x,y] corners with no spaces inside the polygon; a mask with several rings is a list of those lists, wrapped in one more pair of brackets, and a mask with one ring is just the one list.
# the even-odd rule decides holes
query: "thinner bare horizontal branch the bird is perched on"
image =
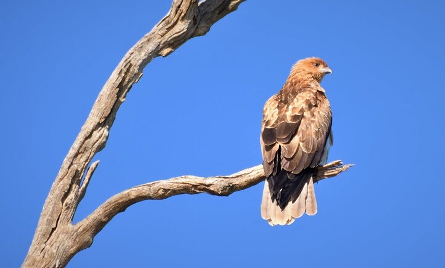
{"label": "thinner bare horizontal branch the bird is perched on", "polygon": [[[316,171],[315,182],[335,177],[351,166],[353,165],[343,165],[339,160],[319,166]],[[257,185],[264,180],[263,166],[258,165],[228,176],[198,177],[185,175],[142,184],[109,198],[90,216],[78,222],[76,227],[82,230],[82,235],[94,237],[114,216],[143,200],[165,199],[173,195],[198,193],[227,196]]]}

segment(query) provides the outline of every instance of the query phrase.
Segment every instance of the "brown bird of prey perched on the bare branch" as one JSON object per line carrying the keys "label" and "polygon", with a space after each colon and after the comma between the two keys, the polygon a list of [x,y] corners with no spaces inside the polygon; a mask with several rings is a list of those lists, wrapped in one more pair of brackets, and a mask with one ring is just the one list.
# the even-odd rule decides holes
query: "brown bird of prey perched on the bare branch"
{"label": "brown bird of prey perched on the bare branch", "polygon": [[320,58],[299,60],[264,104],[260,140],[267,178],[261,216],[272,226],[317,213],[313,173],[326,163],[332,145],[332,112],[320,82],[331,73]]}

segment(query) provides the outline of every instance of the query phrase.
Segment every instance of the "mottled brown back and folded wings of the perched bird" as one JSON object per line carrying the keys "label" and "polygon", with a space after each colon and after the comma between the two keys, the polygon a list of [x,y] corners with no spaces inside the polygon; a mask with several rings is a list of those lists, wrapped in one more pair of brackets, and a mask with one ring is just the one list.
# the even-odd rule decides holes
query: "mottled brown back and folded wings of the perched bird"
{"label": "mottled brown back and folded wings of the perched bird", "polygon": [[298,174],[304,168],[317,166],[331,124],[329,102],[324,93],[314,88],[272,96],[264,105],[261,128],[265,175],[279,168]]}

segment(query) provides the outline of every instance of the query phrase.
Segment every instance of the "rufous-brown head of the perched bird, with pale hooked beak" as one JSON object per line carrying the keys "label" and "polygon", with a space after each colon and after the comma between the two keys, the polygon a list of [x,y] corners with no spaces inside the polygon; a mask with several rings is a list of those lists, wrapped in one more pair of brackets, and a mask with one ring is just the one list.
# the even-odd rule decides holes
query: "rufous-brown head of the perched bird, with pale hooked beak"
{"label": "rufous-brown head of the perched bird, with pale hooked beak", "polygon": [[292,73],[298,76],[310,77],[321,82],[324,75],[332,74],[332,69],[328,67],[326,61],[320,58],[305,58],[294,64],[291,74]]}

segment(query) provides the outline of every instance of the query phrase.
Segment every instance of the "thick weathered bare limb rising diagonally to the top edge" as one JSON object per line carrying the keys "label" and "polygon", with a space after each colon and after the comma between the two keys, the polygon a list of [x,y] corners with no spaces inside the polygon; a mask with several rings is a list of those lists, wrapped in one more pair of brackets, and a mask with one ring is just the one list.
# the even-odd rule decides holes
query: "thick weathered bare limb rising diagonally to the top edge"
{"label": "thick weathered bare limb rising diagonally to the top edge", "polygon": [[125,54],[62,163],[43,205],[23,267],[63,267],[84,248],[85,245],[78,247],[79,243],[71,244],[68,237],[76,237],[71,221],[79,202],[81,178],[94,155],[105,147],[109,129],[131,86],[139,81],[153,58],[165,57],[188,39],[206,34],[211,25],[244,1],[174,0],[168,14]]}

